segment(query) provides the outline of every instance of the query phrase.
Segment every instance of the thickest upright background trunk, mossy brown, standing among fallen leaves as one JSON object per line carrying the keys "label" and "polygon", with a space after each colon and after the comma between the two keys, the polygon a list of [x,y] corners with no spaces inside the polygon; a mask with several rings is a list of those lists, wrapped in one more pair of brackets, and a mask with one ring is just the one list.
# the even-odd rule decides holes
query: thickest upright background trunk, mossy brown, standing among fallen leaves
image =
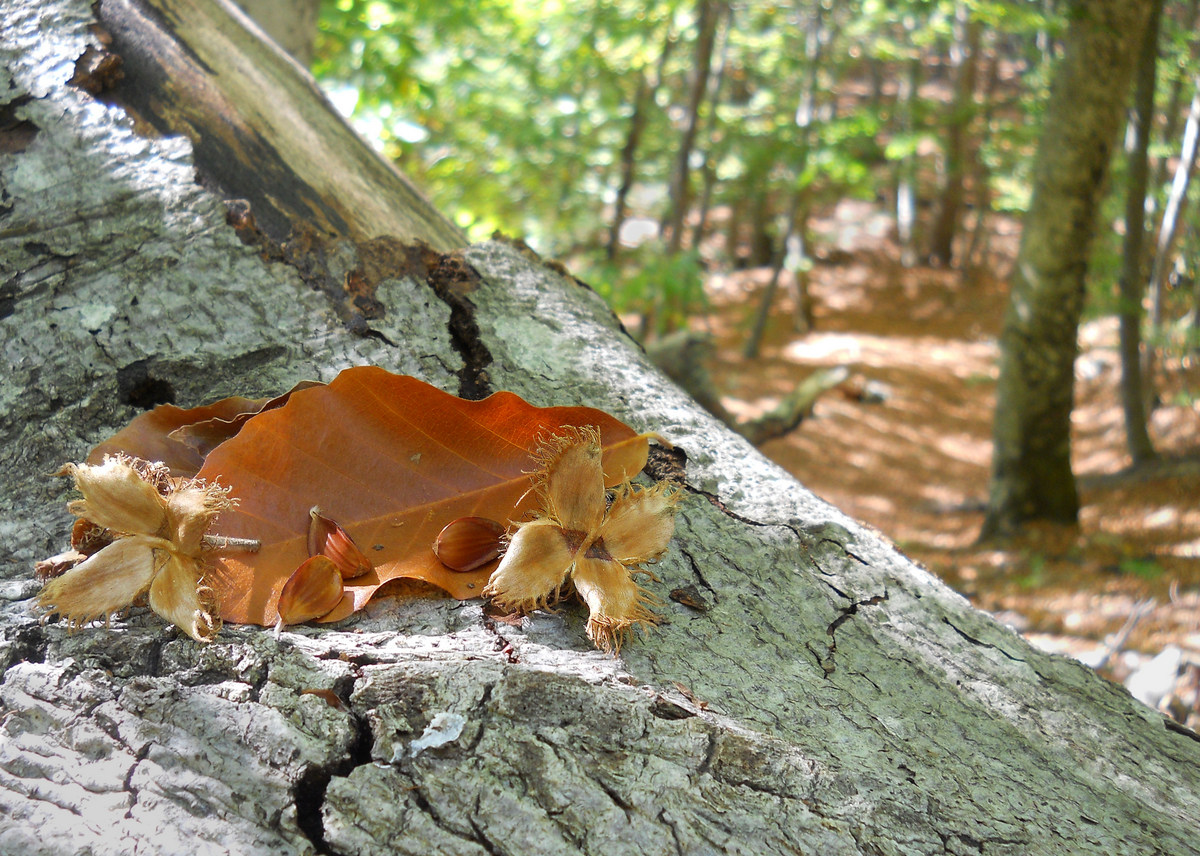
{"label": "thickest upright background trunk, mossy brown, standing among fallen leaves", "polygon": [[1000,340],[984,537],[1032,519],[1078,519],[1070,411],[1084,280],[1151,5],[1091,0],[1068,10]]}

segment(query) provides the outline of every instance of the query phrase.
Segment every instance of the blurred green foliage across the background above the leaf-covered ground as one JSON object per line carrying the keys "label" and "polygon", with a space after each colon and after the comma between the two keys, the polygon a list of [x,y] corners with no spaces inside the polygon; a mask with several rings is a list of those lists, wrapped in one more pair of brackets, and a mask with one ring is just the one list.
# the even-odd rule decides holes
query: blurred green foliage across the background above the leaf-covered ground
{"label": "blurred green foliage across the background above the leaf-covered ground", "polygon": [[[679,259],[656,258],[671,238],[658,225],[670,220],[704,4],[324,0],[314,71],[473,238],[499,228],[570,258],[618,309],[640,312],[649,333],[703,305],[704,270],[778,267],[788,238],[803,247],[788,270],[806,270],[821,252],[809,219],[841,198],[877,199],[898,216],[910,202],[913,258],[946,256],[949,240],[956,265],[985,257],[990,212],[1027,208],[1068,5],[715,5]],[[1156,170],[1177,148],[1170,90],[1182,89],[1183,114],[1195,79],[1196,7],[1166,4],[1159,103],[1168,122],[1151,150]],[[956,91],[964,49],[973,65]],[[914,84],[907,94],[905,80]],[[1151,192],[1162,198],[1169,179],[1156,172]],[[953,216],[935,228],[935,211],[952,203]],[[1105,221],[1120,216],[1110,203]],[[610,233],[625,240],[606,252]],[[1099,294],[1111,291],[1117,246],[1099,243],[1099,261],[1111,259],[1092,268]]]}

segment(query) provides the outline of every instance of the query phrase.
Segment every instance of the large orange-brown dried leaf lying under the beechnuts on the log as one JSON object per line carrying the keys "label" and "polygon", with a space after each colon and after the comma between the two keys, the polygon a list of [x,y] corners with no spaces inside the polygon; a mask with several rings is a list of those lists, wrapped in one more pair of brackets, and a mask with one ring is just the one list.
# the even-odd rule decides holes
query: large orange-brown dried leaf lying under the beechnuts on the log
{"label": "large orange-brown dried leaf lying under the beechnuts on the log", "polygon": [[216,562],[222,617],[276,622],[283,585],[308,557],[313,505],[374,565],[347,580],[342,603],[323,621],[361,609],[397,577],[479,597],[490,565],[467,573],[445,567],[432,549],[438,533],[457,517],[520,520],[534,502],[526,497],[538,463],[529,449],[539,437],[587,425],[599,431],[604,483],[620,484],[646,465],[648,437],[588,407],[539,408],[511,393],[464,401],[371,366],[293,393],[210,451],[199,473],[239,498],[221,515],[222,534],[263,544],[254,555]]}

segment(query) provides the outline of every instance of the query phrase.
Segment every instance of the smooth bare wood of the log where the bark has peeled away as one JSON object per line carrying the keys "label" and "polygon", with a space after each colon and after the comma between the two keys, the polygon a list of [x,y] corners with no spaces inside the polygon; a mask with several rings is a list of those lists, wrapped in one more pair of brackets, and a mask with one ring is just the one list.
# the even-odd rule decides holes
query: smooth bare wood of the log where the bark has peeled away
{"label": "smooth bare wood of the log where the bark has peeled away", "polygon": [[[390,234],[440,250],[462,233],[362,142],[299,65],[205,0],[100,0],[106,62],[95,92],[146,136],[191,140],[202,184],[248,199],[282,241],[296,221],[324,234]],[[92,62],[91,65],[95,65]]]}

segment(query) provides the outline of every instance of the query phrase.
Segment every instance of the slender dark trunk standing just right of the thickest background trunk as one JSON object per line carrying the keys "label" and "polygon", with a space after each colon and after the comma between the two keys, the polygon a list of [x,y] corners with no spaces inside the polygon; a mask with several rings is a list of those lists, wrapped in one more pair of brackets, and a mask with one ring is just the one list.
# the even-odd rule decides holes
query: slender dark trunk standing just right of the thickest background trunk
{"label": "slender dark trunk standing just right of the thickest background trunk", "polygon": [[1154,83],[1158,68],[1158,28],[1163,0],[1152,0],[1150,23],[1138,56],[1136,86],[1129,116],[1126,152],[1129,178],[1126,187],[1126,233],[1122,245],[1118,282],[1118,323],[1121,325],[1121,406],[1124,412],[1126,447],[1134,463],[1153,460],[1154,444],[1146,431],[1146,383],[1142,372],[1141,322],[1146,295],[1146,187],[1150,180],[1150,136],[1154,124]]}

